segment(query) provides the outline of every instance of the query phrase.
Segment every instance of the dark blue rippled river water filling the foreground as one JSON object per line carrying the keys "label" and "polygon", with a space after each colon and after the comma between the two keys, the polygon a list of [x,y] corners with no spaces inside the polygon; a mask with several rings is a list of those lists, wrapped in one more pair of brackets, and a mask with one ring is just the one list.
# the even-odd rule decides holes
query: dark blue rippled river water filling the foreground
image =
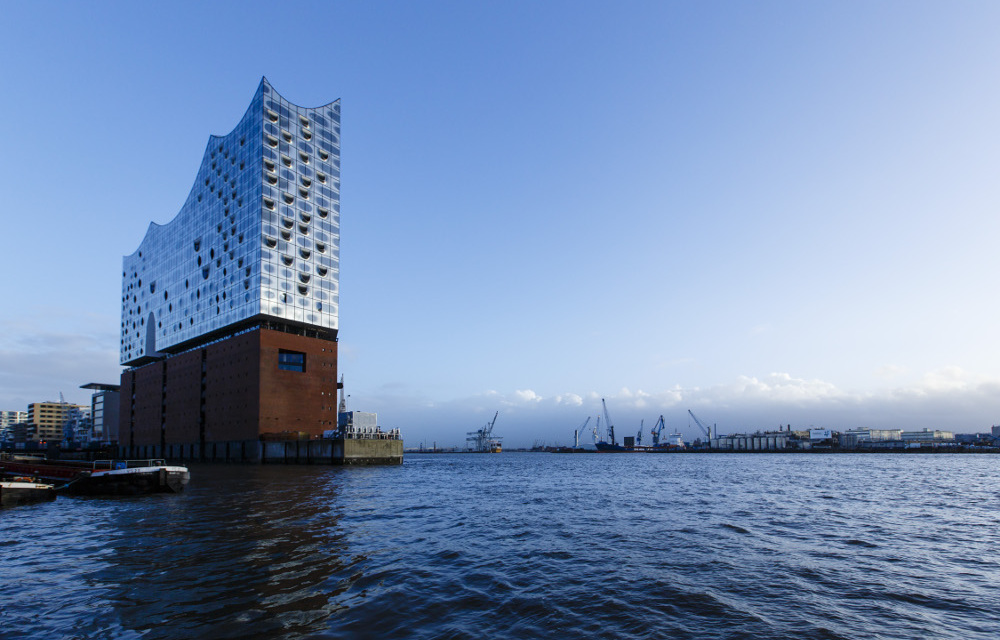
{"label": "dark blue rippled river water filling the foreground", "polygon": [[0,638],[990,638],[1000,457],[408,454],[0,511]]}

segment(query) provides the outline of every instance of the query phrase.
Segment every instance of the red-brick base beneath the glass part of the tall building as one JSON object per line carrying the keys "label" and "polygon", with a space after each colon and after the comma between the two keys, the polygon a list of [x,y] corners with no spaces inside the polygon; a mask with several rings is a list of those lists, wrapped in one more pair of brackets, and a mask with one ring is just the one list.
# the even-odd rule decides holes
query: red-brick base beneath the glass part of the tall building
{"label": "red-brick base beneath the glass part of the tall building", "polygon": [[337,427],[337,342],[254,328],[122,373],[129,457],[253,461]]}

